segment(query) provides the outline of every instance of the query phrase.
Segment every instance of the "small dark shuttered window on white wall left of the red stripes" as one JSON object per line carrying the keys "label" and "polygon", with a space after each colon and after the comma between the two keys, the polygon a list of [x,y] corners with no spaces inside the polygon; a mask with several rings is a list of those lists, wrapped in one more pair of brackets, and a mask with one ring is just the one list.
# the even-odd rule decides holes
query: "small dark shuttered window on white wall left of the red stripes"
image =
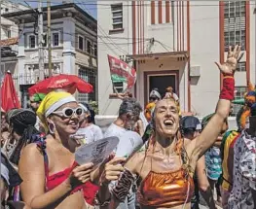
{"label": "small dark shuttered window on white wall left of the red stripes", "polygon": [[111,5],[113,30],[123,29],[123,4]]}

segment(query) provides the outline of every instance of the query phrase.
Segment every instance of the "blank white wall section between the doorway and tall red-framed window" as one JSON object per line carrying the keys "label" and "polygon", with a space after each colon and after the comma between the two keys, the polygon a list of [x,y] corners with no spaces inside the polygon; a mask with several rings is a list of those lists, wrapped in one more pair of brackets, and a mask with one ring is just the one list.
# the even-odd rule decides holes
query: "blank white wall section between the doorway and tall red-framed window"
{"label": "blank white wall section between the doorway and tall red-framed window", "polygon": [[214,112],[220,92],[220,73],[214,61],[219,61],[219,7],[211,1],[191,1],[191,67],[201,66],[201,77],[192,79],[191,110],[199,116]]}

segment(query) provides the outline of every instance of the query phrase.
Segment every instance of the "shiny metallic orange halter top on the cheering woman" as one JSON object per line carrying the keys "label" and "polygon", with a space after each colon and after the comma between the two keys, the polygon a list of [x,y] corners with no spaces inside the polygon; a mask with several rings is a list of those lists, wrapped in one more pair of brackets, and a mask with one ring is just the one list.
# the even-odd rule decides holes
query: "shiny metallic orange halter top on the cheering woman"
{"label": "shiny metallic orange halter top on the cheering woman", "polygon": [[138,201],[142,207],[182,206],[191,201],[194,190],[193,178],[184,167],[172,172],[150,171],[140,184]]}

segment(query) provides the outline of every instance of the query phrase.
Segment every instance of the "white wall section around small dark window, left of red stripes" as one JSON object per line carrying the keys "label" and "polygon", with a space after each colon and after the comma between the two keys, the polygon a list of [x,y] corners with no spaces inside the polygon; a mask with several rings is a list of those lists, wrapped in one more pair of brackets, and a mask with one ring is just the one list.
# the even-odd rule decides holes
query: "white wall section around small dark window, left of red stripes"
{"label": "white wall section around small dark window, left of red stripes", "polygon": [[[122,2],[122,1],[120,1]],[[113,93],[112,82],[110,78],[110,70],[107,54],[119,58],[120,55],[131,53],[131,6],[123,7],[123,24],[124,32],[118,32],[109,35],[112,29],[111,4],[119,3],[119,1],[97,1],[97,35],[98,35],[98,105],[100,115],[116,115],[118,113],[121,101],[119,99],[109,99],[109,94]],[[131,2],[124,2],[131,4]],[[109,7],[100,6],[100,4],[109,4]],[[117,39],[108,39],[106,36],[118,37]],[[125,39],[120,39],[124,37]]]}

